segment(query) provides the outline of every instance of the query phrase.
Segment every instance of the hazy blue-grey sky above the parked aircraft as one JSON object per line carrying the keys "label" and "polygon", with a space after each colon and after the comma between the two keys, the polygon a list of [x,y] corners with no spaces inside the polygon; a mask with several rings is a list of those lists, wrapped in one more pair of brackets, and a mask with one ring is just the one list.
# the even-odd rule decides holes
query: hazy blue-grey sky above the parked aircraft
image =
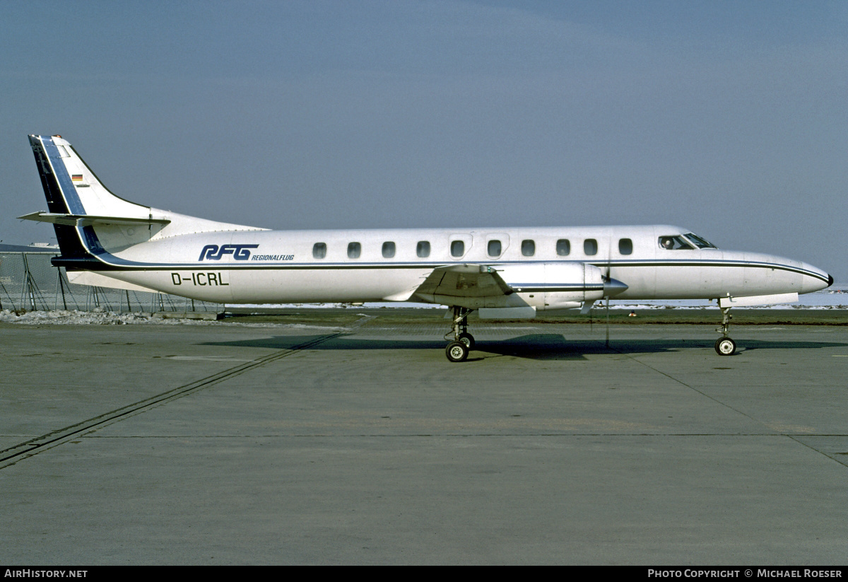
{"label": "hazy blue-grey sky above the parked aircraft", "polygon": [[667,223],[848,283],[848,3],[3,2],[0,239],[29,133],[272,228]]}

